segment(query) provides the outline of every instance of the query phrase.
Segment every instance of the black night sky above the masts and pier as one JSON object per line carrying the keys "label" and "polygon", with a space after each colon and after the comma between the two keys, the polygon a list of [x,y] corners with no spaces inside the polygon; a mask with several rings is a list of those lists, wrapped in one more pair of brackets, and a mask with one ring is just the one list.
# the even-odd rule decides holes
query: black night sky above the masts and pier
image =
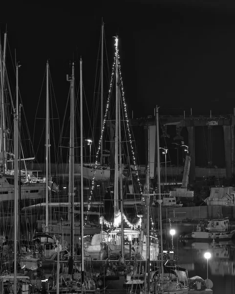
{"label": "black night sky above the masts and pier", "polygon": [[[15,20],[11,16],[0,24],[2,42],[7,24],[12,54],[8,48],[8,64],[14,59],[15,49],[21,64],[19,87],[30,133],[36,112],[44,117],[44,102],[37,107],[47,59],[59,117],[64,116],[69,91],[69,61],[76,63],[79,85],[80,56],[85,96],[92,105],[102,17],[110,65],[112,37],[118,34],[120,38],[128,110],[135,118],[153,115],[155,104],[161,106],[160,114],[183,114],[184,110],[190,114],[191,107],[193,114],[209,114],[210,109],[212,113],[233,113],[233,1],[125,1],[116,11],[114,8],[97,5],[92,12],[66,7],[66,3],[47,9],[30,6],[28,12],[16,14]],[[10,79],[14,87],[14,75]]]}

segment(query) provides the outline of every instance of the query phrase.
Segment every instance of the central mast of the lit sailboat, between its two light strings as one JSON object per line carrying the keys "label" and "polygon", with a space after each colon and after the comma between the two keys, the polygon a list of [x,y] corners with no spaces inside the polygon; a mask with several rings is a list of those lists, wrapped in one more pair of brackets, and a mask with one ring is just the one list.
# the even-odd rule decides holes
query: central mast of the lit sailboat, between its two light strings
{"label": "central mast of the lit sailboat, between its two light strings", "polygon": [[116,48],[116,103],[115,103],[115,180],[114,180],[114,221],[117,216],[118,205],[118,36],[115,38]]}

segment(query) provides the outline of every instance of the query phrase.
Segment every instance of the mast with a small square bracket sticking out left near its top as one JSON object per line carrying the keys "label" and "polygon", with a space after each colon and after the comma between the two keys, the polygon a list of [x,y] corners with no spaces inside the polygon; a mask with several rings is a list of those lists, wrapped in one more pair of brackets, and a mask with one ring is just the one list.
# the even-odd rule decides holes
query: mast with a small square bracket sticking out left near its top
{"label": "mast with a small square bracket sticking out left near its top", "polygon": [[[82,170],[82,168],[81,168]],[[71,211],[71,256],[74,251],[74,63],[72,65],[72,79],[70,80],[70,141],[69,141],[69,188]]]}

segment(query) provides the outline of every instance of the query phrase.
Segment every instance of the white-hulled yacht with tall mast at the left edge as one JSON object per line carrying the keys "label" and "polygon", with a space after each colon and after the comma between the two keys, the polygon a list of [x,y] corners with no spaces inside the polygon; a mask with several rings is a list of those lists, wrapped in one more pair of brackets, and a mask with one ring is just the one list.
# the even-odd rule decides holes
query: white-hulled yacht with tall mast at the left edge
{"label": "white-hulled yacht with tall mast at the left edge", "polygon": [[[11,130],[11,117],[10,113],[12,113],[12,109],[10,109],[14,103],[12,100],[12,96],[10,95],[10,87],[7,79],[6,73],[6,42],[7,36],[4,34],[4,49],[2,55],[2,48],[0,47],[0,201],[2,203],[3,209],[9,207],[9,205],[13,206],[14,202],[14,158],[15,154],[13,152],[13,147],[11,147],[10,142],[15,144],[14,140],[12,140],[12,130]],[[18,66],[20,67],[20,66]],[[18,87],[18,85],[17,85]],[[17,89],[18,91],[18,89]],[[8,95],[9,93],[9,95]],[[21,108],[20,108],[21,109]],[[21,110],[19,109],[19,121],[21,118]],[[14,112],[14,110],[13,110]],[[19,136],[20,130],[19,131]],[[19,143],[19,149],[22,150],[21,142]],[[33,159],[33,158],[30,158]],[[19,166],[22,160],[21,157],[18,158]],[[20,170],[20,169],[19,169]],[[20,173],[18,171],[18,173]],[[42,199],[45,197],[46,186],[44,183],[39,181],[21,181],[21,177],[19,177],[19,181],[21,184],[20,189],[20,205],[30,205],[40,203]]]}

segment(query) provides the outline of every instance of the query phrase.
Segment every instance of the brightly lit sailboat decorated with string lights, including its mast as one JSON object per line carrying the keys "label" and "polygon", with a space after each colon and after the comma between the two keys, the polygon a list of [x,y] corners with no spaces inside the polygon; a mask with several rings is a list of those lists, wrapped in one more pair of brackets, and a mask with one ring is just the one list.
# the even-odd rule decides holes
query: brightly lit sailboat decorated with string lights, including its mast
{"label": "brightly lit sailboat decorated with string lights, including its mast", "polygon": [[[145,195],[143,195],[142,192],[135,164],[132,136],[128,123],[128,111],[120,70],[118,37],[115,37],[115,58],[101,138],[107,123],[107,113],[109,111],[114,79],[116,84],[115,111],[113,112],[113,117],[109,118],[108,125],[113,128],[113,138],[110,143],[114,147],[114,150],[112,150],[113,152],[110,152],[114,154],[114,171],[113,174],[110,174],[110,182],[111,185],[113,185],[113,191],[112,189],[110,190],[110,199],[106,199],[106,201],[109,200],[110,203],[113,202],[114,213],[113,215],[110,214],[111,219],[109,220],[107,219],[107,215],[101,217],[102,230],[99,234],[91,238],[90,243],[85,245],[85,252],[92,257],[94,268],[103,264],[100,280],[104,287],[108,285],[109,288],[123,289],[124,287],[131,288],[134,285],[133,287],[140,290],[145,280],[144,269],[146,269],[146,261],[148,259],[157,259],[158,240],[150,228],[153,235],[151,235],[149,242],[149,230],[146,228],[146,224],[148,223],[146,220],[150,216],[145,209]],[[113,121],[115,123],[113,123]],[[124,140],[122,139],[123,137],[125,138]],[[101,144],[101,139],[99,144]],[[128,181],[125,181],[121,176],[123,153],[125,152],[128,157],[129,169],[131,164],[134,166],[134,172],[130,170],[129,175],[130,177],[135,177],[135,179],[133,178],[133,182],[137,182],[137,185],[139,185],[139,195],[142,196],[142,208],[144,208],[144,213],[138,214],[137,218],[135,217],[135,220],[132,220],[132,222],[128,220],[123,210],[123,195],[126,193],[125,187],[128,185]],[[99,151],[96,154],[96,163],[98,160],[98,153]],[[95,180],[96,172],[94,172],[92,179],[92,187]],[[92,189],[90,193],[92,195]],[[135,196],[134,193],[133,196]],[[112,204],[108,206],[111,208]],[[89,211],[89,209],[87,211]],[[146,233],[146,231],[148,232]]]}

